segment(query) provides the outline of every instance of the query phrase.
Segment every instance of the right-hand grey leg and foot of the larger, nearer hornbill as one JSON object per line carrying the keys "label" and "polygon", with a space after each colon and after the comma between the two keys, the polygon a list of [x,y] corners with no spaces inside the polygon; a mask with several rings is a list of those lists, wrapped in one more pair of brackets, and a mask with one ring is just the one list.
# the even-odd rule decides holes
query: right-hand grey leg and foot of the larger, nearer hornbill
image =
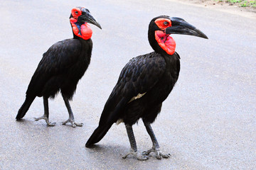
{"label": "right-hand grey leg and foot of the larger, nearer hornbill", "polygon": [[170,154],[164,154],[163,152],[160,151],[159,143],[156,140],[156,136],[154,135],[153,129],[151,128],[151,125],[149,122],[146,122],[143,120],[144,125],[146,127],[146,131],[149,133],[149,136],[152,140],[153,147],[149,149],[148,151],[144,151],[142,154],[149,155],[151,152],[154,152],[156,154],[157,159],[163,158],[169,158]]}

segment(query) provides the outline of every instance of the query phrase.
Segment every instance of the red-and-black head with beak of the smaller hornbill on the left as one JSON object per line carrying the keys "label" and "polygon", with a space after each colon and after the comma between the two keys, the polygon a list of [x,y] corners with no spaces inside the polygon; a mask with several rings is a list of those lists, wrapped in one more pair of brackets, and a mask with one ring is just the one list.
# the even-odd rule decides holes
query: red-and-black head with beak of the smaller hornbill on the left
{"label": "red-and-black head with beak of the smaller hornbill on the left", "polygon": [[92,23],[101,29],[100,23],[97,23],[90,11],[84,7],[75,7],[71,10],[70,23],[72,26],[74,38],[78,36],[82,39],[88,40],[92,37],[92,29],[88,23]]}

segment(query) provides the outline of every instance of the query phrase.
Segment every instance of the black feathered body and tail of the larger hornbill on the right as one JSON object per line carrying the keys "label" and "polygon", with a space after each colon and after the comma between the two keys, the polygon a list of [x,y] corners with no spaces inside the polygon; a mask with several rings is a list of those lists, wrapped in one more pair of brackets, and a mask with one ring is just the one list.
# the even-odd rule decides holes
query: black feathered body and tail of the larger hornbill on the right
{"label": "black feathered body and tail of the larger hornbill on the right", "polygon": [[[102,111],[99,126],[86,146],[99,142],[117,120],[128,125],[133,125],[139,118],[153,123],[161,111],[162,102],[178,80],[179,60],[177,52],[174,55],[151,52],[130,60],[122,69]],[[133,100],[138,94],[142,96]]]}

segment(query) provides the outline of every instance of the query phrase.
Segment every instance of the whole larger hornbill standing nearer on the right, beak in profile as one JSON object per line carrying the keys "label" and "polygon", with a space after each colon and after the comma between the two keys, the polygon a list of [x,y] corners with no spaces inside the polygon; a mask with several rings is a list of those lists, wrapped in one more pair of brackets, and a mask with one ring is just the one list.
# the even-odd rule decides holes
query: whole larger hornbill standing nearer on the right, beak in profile
{"label": "whole larger hornbill standing nearer on the right, beak in profile", "polygon": [[[124,122],[132,147],[129,154],[139,160],[148,159],[147,155],[150,152],[154,152],[157,159],[169,157],[169,154],[160,152],[150,124],[160,113],[162,102],[174,88],[180,71],[180,57],[175,52],[176,42],[169,36],[171,34],[207,38],[204,33],[182,18],[169,16],[153,18],[149,23],[148,38],[154,52],[134,57],[122,69],[117,84],[102,111],[99,126],[92,133],[85,147],[90,147],[102,140],[113,123]],[[142,118],[153,142],[153,147],[142,154],[137,153],[132,130],[132,125],[137,123],[139,118]]]}

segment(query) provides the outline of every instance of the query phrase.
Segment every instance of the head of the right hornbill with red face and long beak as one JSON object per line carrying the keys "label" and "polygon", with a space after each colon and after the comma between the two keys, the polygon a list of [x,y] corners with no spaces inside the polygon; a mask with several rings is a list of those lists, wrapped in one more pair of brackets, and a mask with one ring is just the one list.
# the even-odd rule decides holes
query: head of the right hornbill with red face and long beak
{"label": "head of the right hornbill with red face and long beak", "polygon": [[[173,55],[176,42],[171,34],[193,35],[201,38],[207,36],[182,18],[158,16],[149,23],[149,43],[156,52]],[[164,51],[163,51],[164,50]]]}

